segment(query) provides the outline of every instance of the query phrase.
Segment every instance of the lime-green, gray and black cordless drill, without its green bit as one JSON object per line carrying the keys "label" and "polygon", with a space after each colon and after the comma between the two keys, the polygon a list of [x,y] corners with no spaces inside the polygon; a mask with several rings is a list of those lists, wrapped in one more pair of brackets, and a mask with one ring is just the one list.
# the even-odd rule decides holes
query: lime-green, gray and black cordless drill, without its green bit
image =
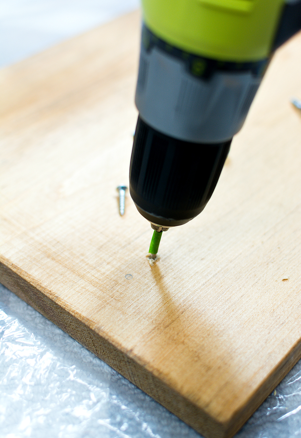
{"label": "lime-green, gray and black cordless drill, without its green bit", "polygon": [[301,0],[142,0],[129,171],[158,232],[205,207],[275,49],[301,28]]}

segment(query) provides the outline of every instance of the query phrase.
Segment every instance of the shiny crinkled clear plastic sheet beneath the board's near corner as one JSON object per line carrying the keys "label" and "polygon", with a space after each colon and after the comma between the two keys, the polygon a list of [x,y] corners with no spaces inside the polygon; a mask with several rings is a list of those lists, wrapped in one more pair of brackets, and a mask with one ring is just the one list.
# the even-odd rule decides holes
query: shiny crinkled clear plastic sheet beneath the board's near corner
{"label": "shiny crinkled clear plastic sheet beneath the board's near corner", "polygon": [[[0,285],[0,436],[200,435]],[[237,437],[301,437],[301,361]]]}

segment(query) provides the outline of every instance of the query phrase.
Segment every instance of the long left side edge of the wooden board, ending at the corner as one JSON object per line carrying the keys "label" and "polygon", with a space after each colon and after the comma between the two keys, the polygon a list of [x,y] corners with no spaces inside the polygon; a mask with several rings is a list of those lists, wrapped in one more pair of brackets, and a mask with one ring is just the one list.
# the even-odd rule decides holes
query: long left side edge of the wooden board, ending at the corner
{"label": "long left side edge of the wooden board, ending at the corner", "polygon": [[1,259],[0,283],[7,289],[14,292],[19,298],[196,431],[207,438],[223,438],[226,436],[222,424],[209,417],[207,413],[170,388],[128,354],[90,329],[88,325],[72,315],[67,309],[51,300],[46,291],[42,292],[22,278],[21,272],[17,273],[21,271],[17,266],[5,261],[2,257]]}

